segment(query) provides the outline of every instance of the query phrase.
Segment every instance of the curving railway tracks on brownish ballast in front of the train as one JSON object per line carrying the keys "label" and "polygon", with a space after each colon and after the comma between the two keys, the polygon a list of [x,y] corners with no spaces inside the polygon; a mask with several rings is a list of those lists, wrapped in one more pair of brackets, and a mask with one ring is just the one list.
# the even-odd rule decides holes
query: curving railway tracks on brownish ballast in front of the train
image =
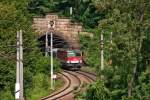
{"label": "curving railway tracks on brownish ballast in front of the train", "polygon": [[74,91],[82,88],[82,84],[92,83],[95,81],[96,76],[94,74],[84,71],[67,71],[64,70],[60,73],[65,80],[65,86],[55,93],[43,97],[41,100],[74,100]]}

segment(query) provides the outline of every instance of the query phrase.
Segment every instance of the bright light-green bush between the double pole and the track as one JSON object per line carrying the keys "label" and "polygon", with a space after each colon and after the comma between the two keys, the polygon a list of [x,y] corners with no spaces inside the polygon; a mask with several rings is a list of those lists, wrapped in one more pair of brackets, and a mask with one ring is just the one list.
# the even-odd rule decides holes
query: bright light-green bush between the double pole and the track
{"label": "bright light-green bush between the double pole and the track", "polygon": [[38,100],[50,92],[49,76],[42,73],[37,73],[33,76],[32,80],[32,88],[26,90],[27,100]]}

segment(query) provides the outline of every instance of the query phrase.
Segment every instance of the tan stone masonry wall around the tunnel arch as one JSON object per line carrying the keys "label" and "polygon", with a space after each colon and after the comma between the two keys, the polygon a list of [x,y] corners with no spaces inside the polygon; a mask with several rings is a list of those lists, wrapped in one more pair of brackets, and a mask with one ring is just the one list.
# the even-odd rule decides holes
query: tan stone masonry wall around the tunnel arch
{"label": "tan stone masonry wall around the tunnel arch", "polygon": [[[55,22],[53,29],[48,28],[49,21]],[[71,47],[75,48],[80,47],[78,43],[78,35],[80,32],[82,34],[90,34],[82,31],[82,25],[72,23],[69,18],[59,18],[55,14],[48,14],[45,17],[34,17],[33,29],[38,33],[38,37],[45,35],[46,32],[53,32],[65,39]]]}

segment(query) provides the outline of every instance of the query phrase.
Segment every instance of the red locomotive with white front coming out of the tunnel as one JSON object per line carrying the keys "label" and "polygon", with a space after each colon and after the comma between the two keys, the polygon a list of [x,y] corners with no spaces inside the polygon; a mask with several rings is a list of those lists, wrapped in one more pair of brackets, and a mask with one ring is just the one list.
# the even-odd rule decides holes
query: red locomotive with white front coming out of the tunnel
{"label": "red locomotive with white front coming out of the tunnel", "polygon": [[79,49],[59,49],[57,58],[63,69],[79,70],[83,65],[83,54]]}

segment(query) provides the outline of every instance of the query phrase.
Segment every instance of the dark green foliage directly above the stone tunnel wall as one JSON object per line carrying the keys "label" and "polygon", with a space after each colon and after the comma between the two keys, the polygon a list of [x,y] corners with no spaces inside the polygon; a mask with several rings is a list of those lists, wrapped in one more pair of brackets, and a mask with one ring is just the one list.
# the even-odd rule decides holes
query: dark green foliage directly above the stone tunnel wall
{"label": "dark green foliage directly above the stone tunnel wall", "polygon": [[73,21],[82,22],[86,28],[94,28],[104,16],[98,12],[91,0],[31,0],[29,12],[34,15],[57,13],[60,16],[70,16],[70,7],[73,8]]}

